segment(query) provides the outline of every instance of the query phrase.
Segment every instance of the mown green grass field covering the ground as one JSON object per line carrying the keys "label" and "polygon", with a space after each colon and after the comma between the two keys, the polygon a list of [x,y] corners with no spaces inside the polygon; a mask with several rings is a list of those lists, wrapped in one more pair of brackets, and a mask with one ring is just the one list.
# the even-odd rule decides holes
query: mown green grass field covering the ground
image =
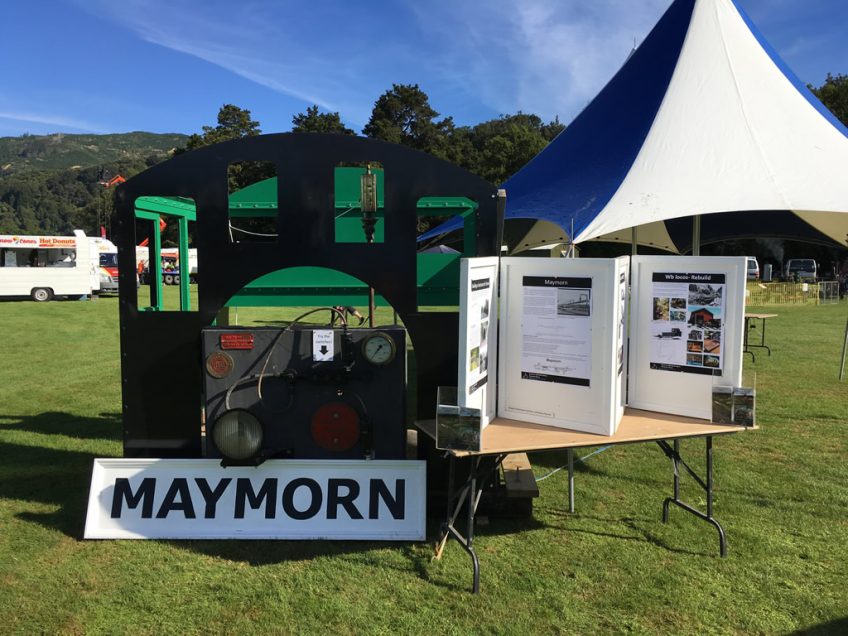
{"label": "mown green grass field covering the ground", "polygon": [[846,633],[848,305],[768,309],[773,355],[745,362],[761,430],[715,443],[729,558],[682,511],[661,523],[655,445],[617,447],[576,514],[562,471],[531,520],[478,528],[472,596],[454,543],[83,541],[92,459],[121,454],[117,300],[0,303],[0,633]]}

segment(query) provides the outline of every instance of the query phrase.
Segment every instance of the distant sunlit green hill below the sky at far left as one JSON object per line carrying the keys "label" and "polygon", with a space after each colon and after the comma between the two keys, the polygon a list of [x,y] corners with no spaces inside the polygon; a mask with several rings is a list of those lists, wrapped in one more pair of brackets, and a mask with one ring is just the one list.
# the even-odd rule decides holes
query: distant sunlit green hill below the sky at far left
{"label": "distant sunlit green hill below the sky at far left", "polygon": [[0,137],[0,175],[28,170],[67,170],[100,166],[185,146],[188,137],[131,132],[114,135],[23,135]]}

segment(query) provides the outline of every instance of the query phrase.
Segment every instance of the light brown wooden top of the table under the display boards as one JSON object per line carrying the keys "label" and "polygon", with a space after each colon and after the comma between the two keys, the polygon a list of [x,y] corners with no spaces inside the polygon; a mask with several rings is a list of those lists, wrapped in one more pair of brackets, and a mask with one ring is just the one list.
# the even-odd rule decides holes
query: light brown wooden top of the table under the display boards
{"label": "light brown wooden top of the table under the display boards", "polygon": [[[435,439],[436,420],[418,421],[415,425]],[[756,427],[754,427],[756,428]],[[709,420],[669,415],[627,408],[615,435],[596,435],[565,428],[545,426],[498,417],[483,429],[482,450],[449,451],[457,457],[468,455],[500,455],[538,450],[635,444],[661,439],[727,435],[747,430],[733,424],[713,424]]]}

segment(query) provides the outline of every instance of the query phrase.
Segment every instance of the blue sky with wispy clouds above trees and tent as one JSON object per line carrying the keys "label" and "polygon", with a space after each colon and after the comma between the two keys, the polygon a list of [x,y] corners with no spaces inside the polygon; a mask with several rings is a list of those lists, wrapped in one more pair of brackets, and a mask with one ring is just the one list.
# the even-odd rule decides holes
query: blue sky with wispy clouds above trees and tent
{"label": "blue sky with wispy clouds above trees and tent", "polygon": [[[359,131],[392,83],[458,124],[569,122],[671,0],[0,0],[0,135],[263,132],[311,104]],[[804,82],[848,73],[848,1],[738,0]]]}

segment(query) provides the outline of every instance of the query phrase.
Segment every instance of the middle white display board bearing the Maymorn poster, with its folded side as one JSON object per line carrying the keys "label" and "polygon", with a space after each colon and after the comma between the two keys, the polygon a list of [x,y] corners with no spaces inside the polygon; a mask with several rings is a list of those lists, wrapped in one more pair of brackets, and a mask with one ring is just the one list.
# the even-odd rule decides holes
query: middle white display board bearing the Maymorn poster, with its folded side
{"label": "middle white display board bearing the Maymorn poster, with its folded side", "polygon": [[501,259],[500,417],[615,432],[624,412],[628,262]]}

